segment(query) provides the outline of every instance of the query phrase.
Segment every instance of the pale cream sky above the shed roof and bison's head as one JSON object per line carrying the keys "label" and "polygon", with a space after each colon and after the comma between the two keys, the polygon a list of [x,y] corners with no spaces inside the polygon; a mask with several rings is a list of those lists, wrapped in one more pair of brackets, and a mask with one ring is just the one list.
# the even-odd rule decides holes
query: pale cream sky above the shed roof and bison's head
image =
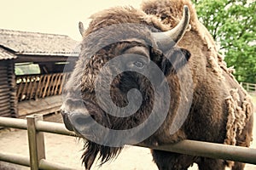
{"label": "pale cream sky above the shed roof and bison's head", "polygon": [[79,21],[104,8],[131,5],[142,0],[0,0],[0,29],[67,35],[80,41]]}

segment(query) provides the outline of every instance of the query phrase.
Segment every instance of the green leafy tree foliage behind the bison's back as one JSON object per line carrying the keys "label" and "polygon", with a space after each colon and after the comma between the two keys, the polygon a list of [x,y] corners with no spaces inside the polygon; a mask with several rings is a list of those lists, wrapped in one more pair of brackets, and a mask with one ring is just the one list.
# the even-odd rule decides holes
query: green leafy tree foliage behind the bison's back
{"label": "green leafy tree foliage behind the bison's back", "polygon": [[234,65],[239,82],[256,83],[256,3],[246,0],[193,0],[199,20]]}

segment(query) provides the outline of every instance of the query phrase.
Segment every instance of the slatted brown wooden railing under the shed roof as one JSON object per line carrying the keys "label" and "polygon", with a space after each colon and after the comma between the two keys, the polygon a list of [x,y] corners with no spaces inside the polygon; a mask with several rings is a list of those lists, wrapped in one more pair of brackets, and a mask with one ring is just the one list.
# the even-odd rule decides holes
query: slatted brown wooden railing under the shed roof
{"label": "slatted brown wooden railing under the shed roof", "polygon": [[18,101],[45,98],[61,94],[62,85],[70,73],[54,73],[47,75],[17,76]]}

